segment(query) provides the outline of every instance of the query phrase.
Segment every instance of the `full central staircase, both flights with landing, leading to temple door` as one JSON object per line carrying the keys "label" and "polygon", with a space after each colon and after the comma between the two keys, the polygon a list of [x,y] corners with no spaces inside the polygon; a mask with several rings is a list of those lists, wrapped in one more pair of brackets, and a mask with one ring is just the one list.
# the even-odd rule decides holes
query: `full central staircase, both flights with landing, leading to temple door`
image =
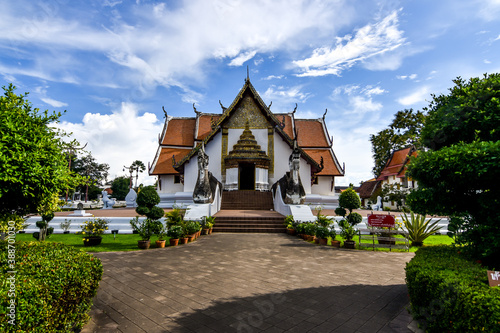
{"label": "full central staircase, both flights with landing, leading to temple door", "polygon": [[282,233],[284,216],[273,211],[271,192],[223,192],[214,232]]}

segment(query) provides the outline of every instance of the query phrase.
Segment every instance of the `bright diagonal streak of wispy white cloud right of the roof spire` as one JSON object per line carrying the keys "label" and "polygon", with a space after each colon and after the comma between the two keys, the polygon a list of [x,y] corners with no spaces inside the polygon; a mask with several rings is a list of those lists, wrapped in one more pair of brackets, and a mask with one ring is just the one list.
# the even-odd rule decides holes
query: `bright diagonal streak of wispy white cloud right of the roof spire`
{"label": "bright diagonal streak of wispy white cloud right of the roof spire", "polygon": [[[386,56],[390,51],[403,45],[404,41],[403,31],[398,28],[398,11],[393,11],[381,21],[362,27],[356,31],[354,37],[351,35],[337,37],[334,47],[317,48],[311,57],[293,63],[302,71],[298,76],[340,75],[342,71],[356,63],[378,55]],[[390,69],[393,69],[394,63],[397,61],[391,59]],[[374,67],[373,69],[383,67],[380,63],[370,65]]]}

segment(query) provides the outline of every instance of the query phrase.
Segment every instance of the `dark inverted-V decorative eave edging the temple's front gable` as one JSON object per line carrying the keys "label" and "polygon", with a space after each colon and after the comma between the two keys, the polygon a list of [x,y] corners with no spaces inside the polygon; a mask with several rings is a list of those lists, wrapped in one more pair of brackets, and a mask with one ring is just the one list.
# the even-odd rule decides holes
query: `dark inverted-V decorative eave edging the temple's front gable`
{"label": "dark inverted-V decorative eave edging the temple's front gable", "polygon": [[[238,95],[236,98],[233,100],[231,105],[225,109],[224,113],[222,116],[219,118],[217,123],[215,124],[215,127],[212,129],[210,134],[207,135],[205,139],[203,139],[201,142],[197,143],[196,146],[191,150],[191,152],[186,155],[182,160],[174,163],[173,167],[179,172],[182,172],[184,168],[184,164],[188,162],[195,154],[198,153],[198,150],[200,149],[201,145],[204,144],[206,145],[208,142],[210,142],[214,136],[222,129],[223,123],[225,123],[233,111],[235,110],[236,105],[243,99],[243,96],[246,92],[246,90],[249,89],[252,95],[254,96],[255,100],[257,101],[258,105],[264,110],[265,116],[270,120],[271,124],[273,125],[274,129],[276,132],[282,137],[282,139],[290,146],[290,148],[293,149],[294,143],[293,139],[291,139],[282,129],[282,123],[278,121],[278,119],[274,116],[274,114],[271,112],[269,107],[264,103],[260,95],[257,93],[255,88],[253,87],[252,83],[250,82],[250,79],[247,77],[245,79],[245,84],[239,91]],[[323,166],[318,164],[313,158],[311,158],[302,148],[298,148],[300,151],[301,156],[311,165],[311,173],[316,174],[320,172],[323,169]]]}

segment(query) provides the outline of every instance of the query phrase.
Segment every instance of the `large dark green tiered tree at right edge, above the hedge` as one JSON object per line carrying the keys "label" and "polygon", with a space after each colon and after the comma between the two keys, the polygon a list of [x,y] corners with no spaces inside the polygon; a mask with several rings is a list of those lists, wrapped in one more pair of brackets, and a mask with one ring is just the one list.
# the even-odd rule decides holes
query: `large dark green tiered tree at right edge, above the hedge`
{"label": "large dark green tiered tree at right edge, above the hedge", "polygon": [[[408,167],[418,189],[407,197],[417,213],[448,215],[457,243],[500,266],[500,75],[458,78],[448,95],[433,96],[422,130],[428,151]],[[459,221],[458,223],[456,221]]]}

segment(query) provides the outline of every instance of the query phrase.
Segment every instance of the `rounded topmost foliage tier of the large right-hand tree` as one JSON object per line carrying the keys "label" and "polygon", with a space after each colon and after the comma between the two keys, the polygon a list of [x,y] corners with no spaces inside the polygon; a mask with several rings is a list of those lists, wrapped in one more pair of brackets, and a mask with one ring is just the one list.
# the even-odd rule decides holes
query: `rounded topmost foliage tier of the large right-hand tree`
{"label": "rounded topmost foliage tier of the large right-hand tree", "polygon": [[439,150],[458,142],[500,140],[500,74],[465,81],[458,77],[447,95],[432,95],[422,129],[423,144]]}

